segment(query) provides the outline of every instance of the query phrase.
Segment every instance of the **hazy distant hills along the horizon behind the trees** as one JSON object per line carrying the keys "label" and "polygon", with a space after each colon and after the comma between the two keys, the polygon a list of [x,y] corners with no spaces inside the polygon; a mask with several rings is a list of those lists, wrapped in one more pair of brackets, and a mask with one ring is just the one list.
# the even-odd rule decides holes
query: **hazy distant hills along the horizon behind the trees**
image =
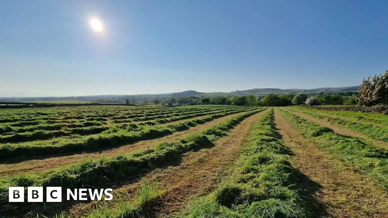
{"label": "hazy distant hills along the horizon behind the trees", "polygon": [[76,96],[76,97],[0,97],[0,101],[57,101],[57,100],[79,100],[79,101],[97,101],[100,99],[115,99],[115,98],[162,98],[162,97],[213,97],[213,96],[225,96],[231,97],[236,95],[268,95],[270,93],[275,94],[288,94],[288,93],[306,93],[308,95],[316,95],[320,92],[325,94],[328,93],[344,93],[344,92],[356,92],[359,89],[359,86],[352,87],[338,87],[338,88],[314,88],[314,89],[280,89],[280,88],[254,88],[248,90],[237,90],[234,92],[197,92],[194,90],[187,90],[184,92],[174,92],[174,93],[163,93],[163,94],[143,94],[143,95],[87,95],[87,96]]}

